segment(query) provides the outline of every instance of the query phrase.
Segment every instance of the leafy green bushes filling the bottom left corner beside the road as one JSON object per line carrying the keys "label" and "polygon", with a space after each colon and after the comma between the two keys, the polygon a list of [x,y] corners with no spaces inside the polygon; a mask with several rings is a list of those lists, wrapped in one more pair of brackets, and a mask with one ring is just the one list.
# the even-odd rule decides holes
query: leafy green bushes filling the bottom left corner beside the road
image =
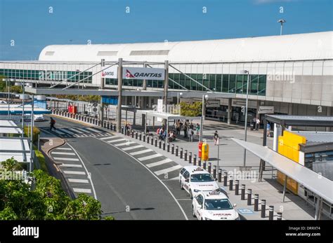
{"label": "leafy green bushes filling the bottom left corner beside the road", "polygon": [[[17,161],[6,165],[13,168]],[[34,170],[32,185],[22,180],[0,180],[0,220],[98,220],[100,202],[85,194],[71,200],[60,180]]]}

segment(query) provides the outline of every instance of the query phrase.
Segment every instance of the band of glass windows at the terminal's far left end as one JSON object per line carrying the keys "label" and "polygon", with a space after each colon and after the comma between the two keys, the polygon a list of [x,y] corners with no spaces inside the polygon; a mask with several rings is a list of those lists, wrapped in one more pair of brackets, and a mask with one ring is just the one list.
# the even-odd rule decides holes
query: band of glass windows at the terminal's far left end
{"label": "band of glass windows at the terminal's far left end", "polygon": [[[26,70],[26,69],[0,69],[0,76],[14,79],[25,79],[35,81],[62,81],[68,78],[69,82],[77,82],[91,76],[91,71],[46,71],[46,70]],[[74,76],[75,74],[79,74]],[[72,77],[74,76],[74,77]],[[92,83],[92,76],[82,83]]]}

